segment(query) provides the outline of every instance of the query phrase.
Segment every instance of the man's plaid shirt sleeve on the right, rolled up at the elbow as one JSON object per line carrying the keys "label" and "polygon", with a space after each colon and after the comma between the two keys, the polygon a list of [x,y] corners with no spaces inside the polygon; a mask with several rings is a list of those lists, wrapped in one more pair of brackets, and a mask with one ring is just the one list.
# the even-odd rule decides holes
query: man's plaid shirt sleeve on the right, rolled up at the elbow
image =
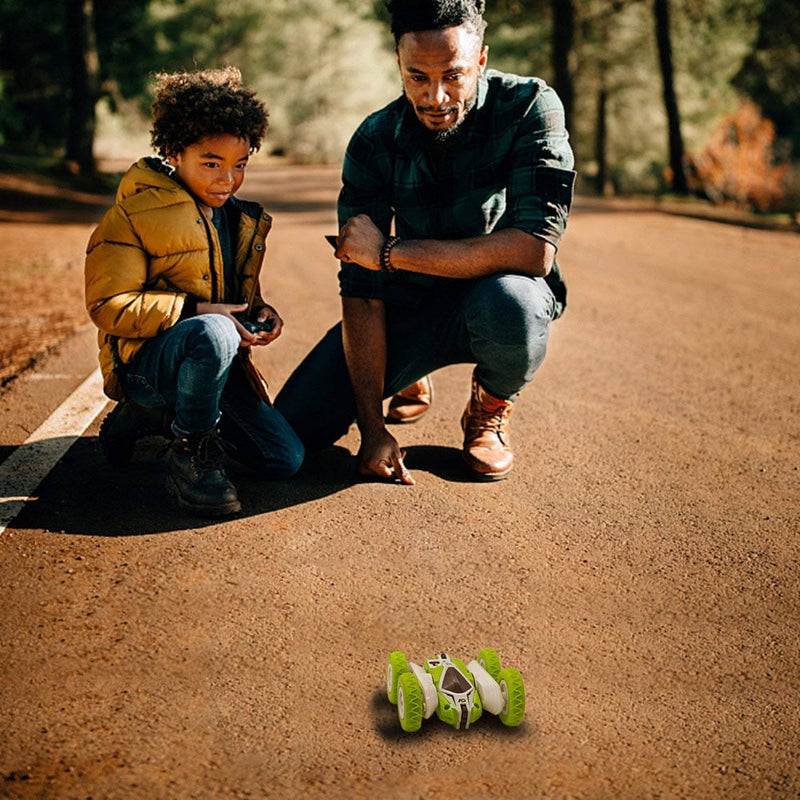
{"label": "man's plaid shirt sleeve on the right, rolled up at the elbow", "polygon": [[555,91],[544,87],[528,107],[511,152],[503,227],[558,247],[572,204],[573,166],[564,107]]}

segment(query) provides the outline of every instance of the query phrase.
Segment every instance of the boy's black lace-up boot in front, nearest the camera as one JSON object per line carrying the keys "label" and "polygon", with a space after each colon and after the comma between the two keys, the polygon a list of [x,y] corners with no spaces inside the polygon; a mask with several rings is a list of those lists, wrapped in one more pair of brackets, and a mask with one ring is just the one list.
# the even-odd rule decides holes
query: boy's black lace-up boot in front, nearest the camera
{"label": "boy's black lace-up boot in front, nearest the camera", "polygon": [[170,447],[167,491],[178,505],[208,517],[226,517],[242,510],[236,487],[222,465],[219,433],[177,437]]}

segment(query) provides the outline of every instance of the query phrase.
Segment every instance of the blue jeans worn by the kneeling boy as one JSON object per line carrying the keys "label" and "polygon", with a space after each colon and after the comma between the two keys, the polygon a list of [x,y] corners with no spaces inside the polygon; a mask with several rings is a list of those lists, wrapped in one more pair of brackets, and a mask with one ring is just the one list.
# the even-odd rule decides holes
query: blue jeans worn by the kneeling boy
{"label": "blue jeans worn by the kneeling boy", "polygon": [[182,320],[136,354],[123,374],[125,396],[141,406],[173,409],[176,436],[219,425],[237,461],[265,478],[290,477],[303,461],[303,444],[250,388],[235,361],[240,341],[221,314]]}

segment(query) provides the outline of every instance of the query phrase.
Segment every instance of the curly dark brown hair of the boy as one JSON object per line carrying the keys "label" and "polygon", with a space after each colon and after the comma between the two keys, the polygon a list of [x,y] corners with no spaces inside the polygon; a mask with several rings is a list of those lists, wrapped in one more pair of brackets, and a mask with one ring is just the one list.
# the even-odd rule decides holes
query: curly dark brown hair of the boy
{"label": "curly dark brown hair of the boy", "polygon": [[207,136],[228,133],[261,147],[268,113],[236,67],[159,73],[152,105],[153,148],[162,157],[182,153]]}

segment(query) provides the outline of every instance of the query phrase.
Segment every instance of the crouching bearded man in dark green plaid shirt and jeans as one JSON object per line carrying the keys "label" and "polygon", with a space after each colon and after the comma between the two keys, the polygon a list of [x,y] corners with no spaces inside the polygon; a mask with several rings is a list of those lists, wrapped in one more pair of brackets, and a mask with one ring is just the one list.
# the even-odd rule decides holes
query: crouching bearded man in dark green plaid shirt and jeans
{"label": "crouching bearded man in dark green plaid shirt and jeans", "polygon": [[[357,419],[367,477],[414,482],[382,401],[456,363],[476,365],[464,463],[506,477],[513,402],[566,300],[555,253],[575,173],[563,107],[537,78],[486,70],[484,5],[388,3],[404,95],[367,117],[345,156],[342,322],[276,399],[307,447]],[[394,408],[413,404],[403,394]]]}

